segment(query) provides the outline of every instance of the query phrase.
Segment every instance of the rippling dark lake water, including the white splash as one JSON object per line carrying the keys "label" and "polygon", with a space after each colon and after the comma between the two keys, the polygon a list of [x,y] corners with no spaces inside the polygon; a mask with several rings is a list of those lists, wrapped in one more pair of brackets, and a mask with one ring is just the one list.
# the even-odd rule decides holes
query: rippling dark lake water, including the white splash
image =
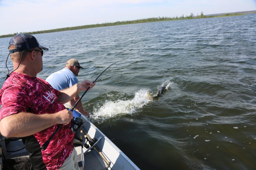
{"label": "rippling dark lake water, including the white splash", "polygon": [[[70,58],[85,68],[79,80],[117,62],[82,102],[139,168],[256,169],[256,14],[34,36],[49,48],[43,79]],[[0,39],[1,85],[9,40]]]}

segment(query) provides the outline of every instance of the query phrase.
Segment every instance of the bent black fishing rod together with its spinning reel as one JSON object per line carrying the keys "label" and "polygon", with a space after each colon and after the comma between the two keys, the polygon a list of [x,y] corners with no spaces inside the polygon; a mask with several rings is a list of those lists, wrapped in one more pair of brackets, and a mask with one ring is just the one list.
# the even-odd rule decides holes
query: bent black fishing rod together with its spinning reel
{"label": "bent black fishing rod together with its spinning reel", "polygon": [[[116,62],[115,62],[116,63]],[[112,63],[110,66],[112,66],[113,64],[115,63]],[[103,74],[110,66],[108,66],[104,71],[102,71],[102,73],[100,73],[100,75],[92,82],[92,83],[95,83],[96,80],[99,80],[99,81],[102,81],[100,79],[98,79],[101,74]],[[90,87],[88,87],[86,89],[86,91],[83,93],[83,95],[77,100],[77,102],[75,103],[75,105],[71,108],[71,109],[68,109],[70,110],[71,112],[73,112],[74,108],[76,107],[76,105],[79,103],[79,101],[84,97],[84,94],[90,89]],[[75,133],[75,131],[77,129],[79,129],[81,126],[83,126],[84,122],[81,118],[77,117],[76,120],[74,120],[74,118],[71,120],[71,129],[72,131]],[[50,144],[50,141],[52,140],[53,136],[57,133],[57,131],[60,129],[60,127],[62,126],[63,124],[59,124],[57,129],[53,132],[52,136],[41,146],[41,150],[44,151],[47,146]],[[75,130],[74,130],[75,129]]]}

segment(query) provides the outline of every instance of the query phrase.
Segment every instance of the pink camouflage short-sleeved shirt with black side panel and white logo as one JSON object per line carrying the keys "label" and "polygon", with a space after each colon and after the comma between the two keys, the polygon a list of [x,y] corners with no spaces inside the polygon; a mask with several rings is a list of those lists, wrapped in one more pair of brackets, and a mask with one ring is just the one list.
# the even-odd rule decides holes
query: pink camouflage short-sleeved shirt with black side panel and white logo
{"label": "pink camouflage short-sleeved shirt with black side panel and white logo", "polygon": [[[13,72],[0,90],[0,120],[20,112],[41,115],[61,111],[65,107],[57,100],[59,93],[41,78]],[[74,133],[68,126],[61,126],[45,151],[41,151],[40,146],[50,138],[58,127],[57,124],[22,139],[25,148],[32,155],[30,161],[33,167],[47,170],[60,168],[74,148]]]}

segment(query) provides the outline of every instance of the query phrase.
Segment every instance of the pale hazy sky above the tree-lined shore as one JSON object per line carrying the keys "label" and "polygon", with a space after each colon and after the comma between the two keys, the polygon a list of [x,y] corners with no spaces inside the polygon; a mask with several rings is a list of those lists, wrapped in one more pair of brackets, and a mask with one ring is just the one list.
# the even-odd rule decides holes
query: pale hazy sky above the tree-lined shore
{"label": "pale hazy sky above the tree-lined shore", "polygon": [[151,17],[252,11],[256,0],[0,0],[0,35]]}

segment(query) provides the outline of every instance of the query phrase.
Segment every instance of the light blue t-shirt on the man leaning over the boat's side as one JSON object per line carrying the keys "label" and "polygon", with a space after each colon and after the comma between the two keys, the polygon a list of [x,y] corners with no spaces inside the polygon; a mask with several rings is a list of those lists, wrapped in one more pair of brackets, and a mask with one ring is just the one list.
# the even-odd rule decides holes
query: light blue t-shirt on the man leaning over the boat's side
{"label": "light blue t-shirt on the man leaning over the boat's side", "polygon": [[76,76],[67,68],[52,73],[45,81],[59,91],[78,83]]}

